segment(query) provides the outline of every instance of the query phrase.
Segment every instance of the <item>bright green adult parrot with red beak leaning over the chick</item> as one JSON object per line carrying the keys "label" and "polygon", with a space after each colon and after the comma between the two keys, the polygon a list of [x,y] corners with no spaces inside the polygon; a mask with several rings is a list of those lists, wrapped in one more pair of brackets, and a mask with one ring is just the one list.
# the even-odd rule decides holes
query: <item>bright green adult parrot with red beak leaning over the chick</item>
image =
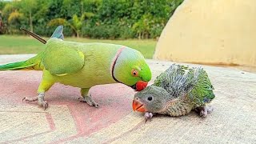
{"label": "bright green adult parrot with red beak leaning over the chick", "polygon": [[26,102],[38,101],[38,105],[46,109],[45,93],[59,82],[81,88],[80,101],[98,107],[91,98],[90,87],[120,82],[134,90],[142,90],[151,79],[150,68],[138,50],[106,43],[64,41],[63,26],[58,26],[47,42],[25,31],[46,44],[46,49],[26,61],[2,65],[0,70],[42,70],[38,96],[23,98]]}

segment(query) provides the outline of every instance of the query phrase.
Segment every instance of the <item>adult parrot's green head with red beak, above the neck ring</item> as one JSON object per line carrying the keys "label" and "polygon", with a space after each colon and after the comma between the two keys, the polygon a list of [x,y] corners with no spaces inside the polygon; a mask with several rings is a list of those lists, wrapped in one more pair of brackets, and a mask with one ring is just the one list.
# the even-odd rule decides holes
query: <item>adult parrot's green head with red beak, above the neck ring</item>
{"label": "adult parrot's green head with red beak, above the neck ring", "polygon": [[114,62],[112,76],[134,90],[143,90],[151,79],[150,67],[138,50],[125,47]]}

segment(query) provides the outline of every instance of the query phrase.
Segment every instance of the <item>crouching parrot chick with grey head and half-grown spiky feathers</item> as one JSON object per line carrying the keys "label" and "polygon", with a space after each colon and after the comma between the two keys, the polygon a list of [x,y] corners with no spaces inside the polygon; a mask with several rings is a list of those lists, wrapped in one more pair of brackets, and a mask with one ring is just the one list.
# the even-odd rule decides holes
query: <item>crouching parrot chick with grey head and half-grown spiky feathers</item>
{"label": "crouching parrot chick with grey head and half-grown spiky feathers", "polygon": [[145,118],[153,114],[182,116],[197,110],[206,117],[213,108],[206,106],[214,99],[214,87],[202,68],[188,68],[173,64],[160,74],[154,84],[134,95],[133,109],[146,112]]}

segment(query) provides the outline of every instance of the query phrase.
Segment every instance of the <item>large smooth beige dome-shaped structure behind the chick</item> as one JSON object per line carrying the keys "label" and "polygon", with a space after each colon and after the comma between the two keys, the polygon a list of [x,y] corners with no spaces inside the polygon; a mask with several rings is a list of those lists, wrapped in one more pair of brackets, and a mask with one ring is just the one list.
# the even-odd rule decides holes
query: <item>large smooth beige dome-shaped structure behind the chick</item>
{"label": "large smooth beige dome-shaped structure behind the chick", "polygon": [[185,0],[162,31],[154,58],[256,66],[256,1]]}

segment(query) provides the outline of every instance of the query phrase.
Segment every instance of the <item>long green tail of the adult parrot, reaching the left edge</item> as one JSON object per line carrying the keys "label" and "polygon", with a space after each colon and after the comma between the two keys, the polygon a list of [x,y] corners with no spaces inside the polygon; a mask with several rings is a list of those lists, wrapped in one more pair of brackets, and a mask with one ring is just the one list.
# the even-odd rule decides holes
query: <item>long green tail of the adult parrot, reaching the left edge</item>
{"label": "long green tail of the adult parrot, reaching the left edge", "polygon": [[8,63],[0,66],[0,70],[43,70],[42,53],[26,61]]}

